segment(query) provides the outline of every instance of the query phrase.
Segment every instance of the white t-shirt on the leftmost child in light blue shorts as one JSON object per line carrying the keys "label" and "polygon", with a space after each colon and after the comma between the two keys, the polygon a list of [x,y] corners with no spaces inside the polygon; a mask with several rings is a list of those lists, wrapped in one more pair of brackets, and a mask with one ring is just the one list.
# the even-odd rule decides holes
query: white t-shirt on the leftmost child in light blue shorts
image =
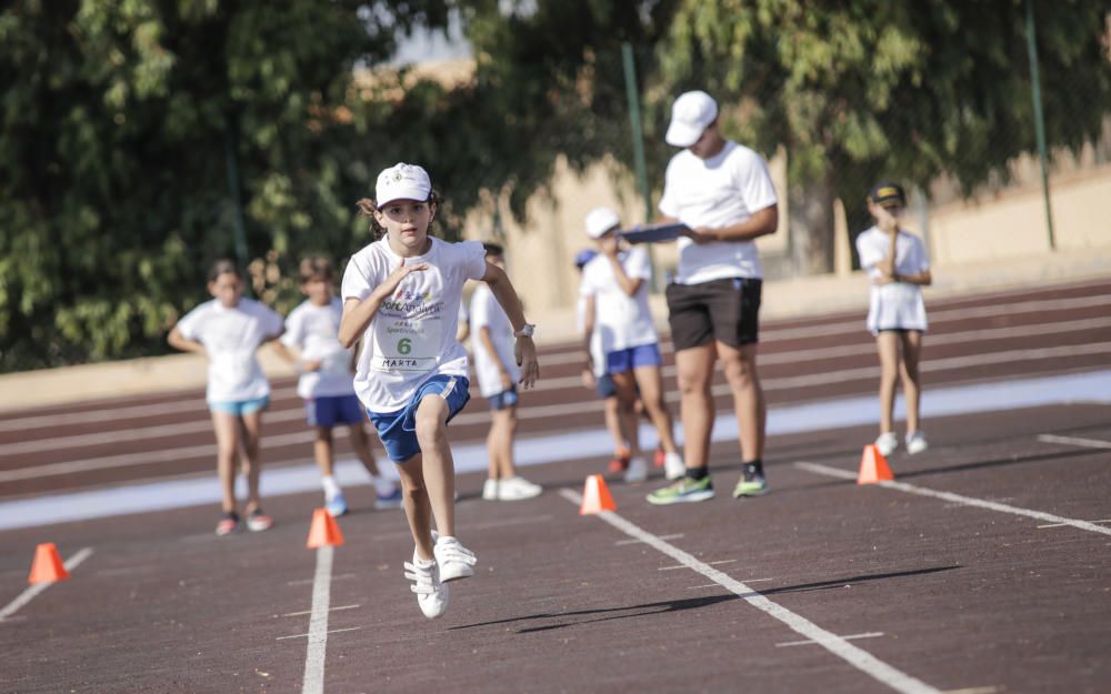
{"label": "white t-shirt on the leftmost child in light blue shorts", "polygon": [[178,321],[178,332],[204,345],[208,353],[209,402],[242,402],[270,394],[254,351],[280,335],[281,315],[253,299],[240,299],[226,308],[219,300],[206,301]]}

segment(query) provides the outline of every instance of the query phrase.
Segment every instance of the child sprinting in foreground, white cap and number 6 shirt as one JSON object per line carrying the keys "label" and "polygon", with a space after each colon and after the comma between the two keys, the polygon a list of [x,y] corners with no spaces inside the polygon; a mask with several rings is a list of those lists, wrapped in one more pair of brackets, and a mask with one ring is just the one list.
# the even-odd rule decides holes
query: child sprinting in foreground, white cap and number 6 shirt
{"label": "child sprinting in foreground, white cap and number 6 shirt", "polygon": [[[512,324],[520,383],[540,373],[533,326],[509,276],[482,244],[429,237],[437,204],[428,173],[398,163],[382,171],[377,202],[360,200],[381,238],[351,257],[343,273],[346,348],[362,341],[354,388],[390,460],[398,465],[416,549],[406,577],[424,616],[448,608],[444,582],[473,575],[476,557],[456,539],[454,463],[447,424],[467,404],[467,351],[456,340],[463,283],[490,285]],[[436,519],[438,534],[432,531]]]}

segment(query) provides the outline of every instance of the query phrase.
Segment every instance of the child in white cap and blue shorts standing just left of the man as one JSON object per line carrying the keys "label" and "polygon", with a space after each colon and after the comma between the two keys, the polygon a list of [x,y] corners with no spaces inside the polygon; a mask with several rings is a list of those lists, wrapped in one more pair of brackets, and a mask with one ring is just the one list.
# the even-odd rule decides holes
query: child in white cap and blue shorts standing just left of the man
{"label": "child in white cap and blue shorts standing just left of the man", "polygon": [[588,364],[594,359],[594,342],[603,355],[599,369],[613,380],[622,433],[629,443],[627,482],[648,477],[648,464],[640,450],[637,424],[638,392],[655,426],[664,450],[669,480],[684,474],[682,456],[671,431],[671,413],[663,399],[659,338],[648,305],[648,282],[652,276],[643,248],[622,250],[618,230],[621,219],[609,208],[592,210],[585,219],[587,234],[599,253],[582,269],[579,295],[583,301],[583,349]]}

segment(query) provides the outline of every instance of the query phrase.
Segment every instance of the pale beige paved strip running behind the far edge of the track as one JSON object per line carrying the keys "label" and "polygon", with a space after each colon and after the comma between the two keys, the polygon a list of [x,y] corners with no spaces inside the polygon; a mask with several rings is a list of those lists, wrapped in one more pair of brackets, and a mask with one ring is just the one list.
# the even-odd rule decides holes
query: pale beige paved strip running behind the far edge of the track
{"label": "pale beige paved strip running behind the far edge of the track", "polygon": [[[927,304],[931,298],[1078,282],[1109,275],[1111,248],[1044,253],[1007,260],[998,265],[978,263],[941,268],[934,271],[933,286],[927,289]],[[844,311],[858,312],[863,324],[868,306],[867,279],[855,272],[847,276],[831,274],[769,282],[763,301],[761,318],[765,321]],[[658,324],[665,329],[667,308],[662,295],[653,295],[651,304]],[[537,339],[541,346],[577,338],[573,308],[540,314],[532,312],[529,318],[539,326]],[[262,350],[260,359],[271,378],[293,375],[291,368],[270,350]],[[203,385],[204,378],[204,360],[194,354],[6,374],[0,375],[0,412],[198,388]]]}

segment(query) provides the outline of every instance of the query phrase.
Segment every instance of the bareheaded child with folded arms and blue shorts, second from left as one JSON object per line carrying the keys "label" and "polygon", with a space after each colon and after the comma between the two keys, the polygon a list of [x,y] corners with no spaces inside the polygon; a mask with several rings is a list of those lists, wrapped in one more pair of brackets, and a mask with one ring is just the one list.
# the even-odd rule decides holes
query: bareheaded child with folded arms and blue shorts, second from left
{"label": "bareheaded child with folded arms and blue shorts, second from left", "polygon": [[[351,447],[374,484],[374,507],[397,509],[401,505],[401,490],[381,476],[374,463],[363,429],[366,416],[351,384],[352,354],[343,349],[337,336],[343,304],[332,293],[332,264],[319,255],[306,258],[301,261],[300,274],[301,292],[308,299],[286,319],[286,334],[278,343],[281,345],[278,352],[296,363],[301,373],[297,394],[304,399],[306,415],[316,432],[312,452],[324,487],[324,507],[332,516],[348,512],[343,490],[333,471],[332,429],[343,424],[348,428]],[[290,352],[291,349],[297,353]]]}

